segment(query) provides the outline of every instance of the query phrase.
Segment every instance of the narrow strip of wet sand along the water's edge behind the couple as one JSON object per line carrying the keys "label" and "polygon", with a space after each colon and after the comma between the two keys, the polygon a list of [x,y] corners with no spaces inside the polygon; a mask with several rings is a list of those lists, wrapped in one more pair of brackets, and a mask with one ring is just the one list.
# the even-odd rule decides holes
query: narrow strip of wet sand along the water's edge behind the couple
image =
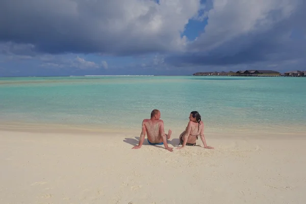
{"label": "narrow strip of wet sand along the water's edge behind the couple", "polygon": [[[170,127],[165,124],[165,133],[168,130],[172,130],[173,135],[178,134],[177,137],[185,130],[184,127],[179,129],[177,127]],[[299,130],[299,131],[297,131]],[[0,131],[9,131],[9,132],[28,132],[28,133],[67,133],[67,134],[136,134],[140,135],[141,128],[129,128],[129,127],[117,127],[117,126],[103,126],[103,125],[79,125],[79,124],[56,124],[56,123],[33,123],[33,122],[12,122],[2,121],[0,123]],[[284,126],[272,126],[268,125],[267,127],[261,127],[261,129],[254,128],[241,128],[231,127],[226,128],[222,127],[220,129],[206,127],[206,135],[304,135],[304,131],[300,125],[293,127],[284,127]]]}

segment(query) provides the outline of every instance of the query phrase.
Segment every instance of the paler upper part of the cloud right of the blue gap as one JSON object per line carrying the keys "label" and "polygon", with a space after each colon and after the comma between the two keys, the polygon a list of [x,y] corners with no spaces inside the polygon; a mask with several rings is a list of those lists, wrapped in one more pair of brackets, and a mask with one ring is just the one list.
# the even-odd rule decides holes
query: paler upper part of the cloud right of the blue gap
{"label": "paler upper part of the cloud right of the blue gap", "polygon": [[208,25],[190,49],[209,50],[251,32],[265,32],[297,9],[300,0],[214,0]]}

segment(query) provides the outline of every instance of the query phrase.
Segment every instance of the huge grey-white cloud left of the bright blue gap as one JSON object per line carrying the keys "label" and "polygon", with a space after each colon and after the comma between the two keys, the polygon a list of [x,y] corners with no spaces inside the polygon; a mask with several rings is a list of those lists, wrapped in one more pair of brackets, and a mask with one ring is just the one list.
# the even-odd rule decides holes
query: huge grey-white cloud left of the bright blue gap
{"label": "huge grey-white cloud left of the bright blue gap", "polygon": [[0,41],[35,52],[133,55],[183,50],[199,0],[3,0]]}

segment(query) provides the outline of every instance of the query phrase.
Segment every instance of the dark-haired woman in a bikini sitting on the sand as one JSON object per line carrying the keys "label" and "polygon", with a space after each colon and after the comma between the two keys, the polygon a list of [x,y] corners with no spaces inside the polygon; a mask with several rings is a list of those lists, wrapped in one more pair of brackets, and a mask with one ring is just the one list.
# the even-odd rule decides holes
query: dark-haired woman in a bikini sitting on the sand
{"label": "dark-haired woman in a bikini sitting on the sand", "polygon": [[207,146],[205,137],[204,137],[204,123],[201,121],[201,115],[197,111],[192,111],[189,116],[188,126],[186,130],[180,135],[180,144],[181,147],[177,149],[182,149],[187,146],[195,146],[198,136],[204,144],[204,148],[213,149],[214,147]]}

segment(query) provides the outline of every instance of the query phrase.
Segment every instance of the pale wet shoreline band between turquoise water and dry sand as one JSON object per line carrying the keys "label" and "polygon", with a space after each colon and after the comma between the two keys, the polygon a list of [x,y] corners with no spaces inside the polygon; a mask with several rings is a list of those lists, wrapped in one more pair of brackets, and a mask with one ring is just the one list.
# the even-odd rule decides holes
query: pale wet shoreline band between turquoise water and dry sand
{"label": "pale wet shoreline band between turquoise water and dry sand", "polygon": [[[168,132],[168,127],[165,126],[165,133]],[[172,137],[179,138],[180,134],[185,129],[171,129]],[[40,134],[62,134],[62,135],[91,135],[91,136],[103,136],[103,135],[114,135],[114,136],[135,136],[139,137],[141,129],[127,129],[127,128],[110,128],[101,127],[94,125],[68,125],[68,124],[39,124],[39,123],[24,123],[24,122],[7,122],[0,123],[0,132],[11,132],[16,134],[24,133],[40,133]],[[263,130],[252,130],[252,129],[232,129],[223,131],[214,131],[210,129],[205,130],[206,138],[222,138],[226,137],[231,139],[265,139],[266,137],[271,139],[281,138],[300,138],[305,137],[306,134],[303,131],[288,131],[280,132],[278,129],[271,129],[269,131]]]}

